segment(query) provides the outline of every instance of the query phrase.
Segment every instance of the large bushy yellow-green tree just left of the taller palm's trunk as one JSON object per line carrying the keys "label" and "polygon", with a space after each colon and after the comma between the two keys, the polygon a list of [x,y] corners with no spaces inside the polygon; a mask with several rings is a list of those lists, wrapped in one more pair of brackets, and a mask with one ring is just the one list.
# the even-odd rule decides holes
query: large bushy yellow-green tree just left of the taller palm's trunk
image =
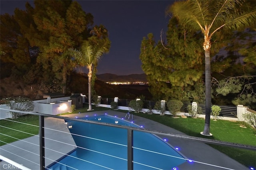
{"label": "large bushy yellow-green tree just left of the taller palm's trunk", "polygon": [[[186,40],[188,37],[191,39]],[[198,89],[194,86],[202,83],[203,51],[197,44],[202,36],[196,32],[187,33],[176,18],[171,18],[166,40],[166,44],[156,43],[153,34],[149,33],[141,43],[142,70],[147,75],[152,96],[156,100],[198,101]]]}

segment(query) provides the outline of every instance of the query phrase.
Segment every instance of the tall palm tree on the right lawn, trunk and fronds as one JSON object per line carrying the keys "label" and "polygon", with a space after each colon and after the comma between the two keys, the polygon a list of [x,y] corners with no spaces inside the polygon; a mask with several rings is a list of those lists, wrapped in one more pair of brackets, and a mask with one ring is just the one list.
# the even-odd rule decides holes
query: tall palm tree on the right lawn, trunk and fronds
{"label": "tall palm tree on the right lawn, trunk and fronds", "polygon": [[243,11],[244,4],[243,0],[187,0],[175,2],[167,10],[186,27],[200,29],[204,35],[206,115],[202,135],[211,135],[211,39],[220,29],[243,30],[255,24],[255,8],[251,10],[247,7],[246,11]]}

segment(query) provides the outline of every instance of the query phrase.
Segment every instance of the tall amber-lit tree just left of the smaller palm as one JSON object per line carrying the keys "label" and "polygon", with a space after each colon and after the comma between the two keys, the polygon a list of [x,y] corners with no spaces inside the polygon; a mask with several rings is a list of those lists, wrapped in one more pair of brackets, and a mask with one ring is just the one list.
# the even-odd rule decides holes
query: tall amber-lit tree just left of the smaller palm
{"label": "tall amber-lit tree just left of the smaller palm", "polygon": [[74,69],[74,63],[63,54],[90,36],[93,16],[84,12],[76,1],[35,1],[34,4],[35,26],[28,25],[23,29],[34,30],[26,36],[31,45],[40,48],[37,63],[42,65],[44,81],[57,79],[66,94],[67,76]]}

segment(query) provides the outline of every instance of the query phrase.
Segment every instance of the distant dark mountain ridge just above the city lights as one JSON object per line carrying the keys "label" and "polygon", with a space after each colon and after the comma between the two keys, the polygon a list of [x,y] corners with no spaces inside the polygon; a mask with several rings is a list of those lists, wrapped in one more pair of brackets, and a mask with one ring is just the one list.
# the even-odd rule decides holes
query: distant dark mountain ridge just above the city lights
{"label": "distant dark mountain ridge just above the city lights", "polygon": [[130,74],[119,76],[116,74],[98,74],[97,79],[102,82],[147,82],[146,74]]}

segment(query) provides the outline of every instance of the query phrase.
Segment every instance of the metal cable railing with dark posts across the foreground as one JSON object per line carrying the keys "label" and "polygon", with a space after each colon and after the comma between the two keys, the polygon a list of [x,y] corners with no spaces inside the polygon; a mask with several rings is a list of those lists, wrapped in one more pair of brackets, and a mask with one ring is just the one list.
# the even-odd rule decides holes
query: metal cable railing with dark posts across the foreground
{"label": "metal cable railing with dark posts across the foreground", "polygon": [[[14,112],[22,112],[22,111],[15,111],[15,110],[11,110],[11,111],[14,111]],[[114,155],[111,155],[111,154],[106,154],[104,152],[99,152],[99,151],[96,151],[96,150],[92,150],[92,149],[88,149],[88,148],[85,148],[85,147],[79,147],[79,146],[76,146],[76,145],[72,145],[72,144],[69,144],[69,143],[65,143],[65,141],[58,141],[58,140],[55,140],[55,139],[50,139],[48,137],[45,137],[44,136],[44,133],[42,135],[42,133],[40,135],[33,135],[31,133],[27,133],[27,132],[24,132],[24,131],[20,131],[20,130],[17,130],[17,129],[12,129],[12,128],[9,128],[9,127],[4,127],[2,125],[0,125],[0,127],[2,128],[7,128],[7,129],[10,129],[10,130],[14,130],[14,131],[18,131],[20,133],[26,133],[26,134],[29,134],[29,135],[33,135],[33,136],[37,136],[37,137],[40,137],[40,145],[36,145],[34,143],[31,143],[31,142],[28,142],[28,141],[25,141],[23,139],[18,139],[16,137],[12,137],[10,135],[6,135],[6,134],[3,134],[3,133],[0,133],[1,135],[5,135],[5,136],[8,136],[8,137],[12,137],[14,139],[17,139],[17,140],[20,140],[20,141],[23,141],[23,142],[26,142],[27,144],[31,144],[31,145],[34,145],[36,147],[40,147],[40,150],[50,150],[52,152],[57,152],[59,154],[62,154],[63,156],[70,156],[70,157],[73,157],[73,158],[76,158],[76,159],[80,159],[80,158],[77,158],[77,157],[74,157],[70,154],[66,154],[64,152],[60,152],[58,150],[54,150],[54,149],[50,149],[49,147],[45,147],[44,146],[44,142],[45,140],[49,140],[49,141],[54,141],[54,142],[57,142],[57,143],[62,143],[64,145],[69,145],[69,146],[72,146],[72,147],[77,147],[79,149],[84,149],[84,150],[89,150],[89,151],[92,151],[92,152],[96,152],[98,154],[104,154],[106,156],[110,156],[110,157],[114,157],[114,158],[118,158],[118,159],[122,159],[122,160],[125,160],[127,161],[127,164],[128,164],[128,169],[133,169],[133,164],[141,164],[143,166],[147,166],[147,167],[150,167],[150,168],[155,168],[155,169],[160,169],[158,167],[153,167],[153,166],[149,166],[149,165],[146,165],[146,164],[143,164],[143,163],[140,163],[140,162],[136,162],[133,160],[133,150],[144,150],[146,152],[154,152],[152,150],[146,150],[146,149],[141,149],[141,148],[138,148],[138,147],[134,147],[133,146],[133,131],[140,131],[140,132],[144,132],[144,133],[151,133],[151,134],[154,134],[154,135],[163,135],[163,136],[167,136],[167,137],[174,137],[174,138],[178,138],[178,139],[184,139],[184,140],[190,140],[190,141],[199,141],[199,142],[203,142],[203,143],[210,143],[210,144],[215,144],[215,145],[222,145],[222,146],[228,146],[228,147],[236,147],[236,148],[240,148],[240,149],[248,149],[248,150],[254,150],[256,151],[256,147],[253,147],[253,146],[248,146],[248,145],[239,145],[239,144],[235,144],[235,143],[228,143],[228,142],[221,142],[221,141],[216,141],[216,140],[209,140],[209,139],[202,139],[202,138],[197,138],[197,137],[190,137],[190,136],[187,136],[187,135],[176,135],[176,134],[170,134],[170,133],[161,133],[161,132],[158,132],[158,131],[149,131],[149,130],[145,130],[145,129],[139,129],[139,128],[136,128],[136,127],[126,127],[126,126],[120,126],[120,125],[113,125],[113,124],[108,124],[108,123],[100,123],[100,122],[94,122],[94,121],[88,121],[88,120],[82,120],[82,119],[76,119],[76,118],[68,118],[68,117],[59,117],[59,116],[54,116],[54,115],[46,115],[46,114],[40,114],[40,113],[30,113],[30,112],[22,112],[22,113],[28,113],[28,114],[33,114],[33,115],[39,115],[41,116],[43,119],[44,117],[54,117],[54,118],[58,118],[58,119],[67,119],[67,120],[72,120],[72,121],[80,121],[80,122],[85,122],[85,123],[92,123],[92,124],[97,124],[97,125],[104,125],[104,126],[110,126],[110,127],[116,127],[116,128],[121,128],[121,129],[127,129],[127,135],[128,135],[128,141],[127,141],[127,145],[123,145],[123,144],[120,144],[120,143],[115,143],[115,142],[111,142],[111,141],[105,141],[105,140],[102,140],[102,139],[97,139],[97,138],[93,138],[93,137],[88,137],[88,136],[83,136],[83,135],[78,135],[78,134],[75,134],[75,133],[68,133],[68,132],[65,132],[65,131],[60,131],[60,130],[57,130],[57,129],[52,129],[52,128],[48,128],[48,127],[44,127],[44,121],[40,124],[39,128],[41,129],[41,131],[45,131],[45,130],[49,130],[49,131],[56,131],[58,133],[65,133],[65,134],[69,134],[69,135],[75,135],[75,136],[79,136],[79,137],[83,137],[83,138],[86,138],[86,139],[92,139],[92,140],[96,140],[96,141],[101,141],[101,142],[106,142],[106,143],[111,143],[111,144],[114,144],[114,145],[120,145],[122,147],[127,147],[127,159],[126,158],[120,158],[118,156],[114,156]],[[13,121],[13,120],[9,120],[9,119],[6,119],[8,121],[12,121],[12,122],[15,122],[15,123],[22,123],[22,122],[18,122],[18,121]],[[27,124],[27,123],[22,123],[22,124],[25,124],[25,125],[31,125],[31,124]],[[33,127],[38,127],[36,125],[31,125]],[[1,141],[3,143],[6,143],[4,141]],[[43,144],[42,144],[43,143]],[[22,149],[20,147],[17,147],[15,145],[12,145],[10,143],[6,143],[6,145],[10,145],[12,147],[15,147],[15,148],[18,148],[18,149],[21,149],[21,150],[24,150],[30,154],[34,154],[36,156],[40,156],[40,164],[38,164],[37,162],[33,162],[29,159],[26,159],[24,158],[25,160],[29,161],[29,162],[32,162],[34,164],[37,164],[37,165],[40,165],[40,168],[41,169],[49,169],[49,166],[45,166],[45,160],[44,159],[47,159],[47,160],[50,160],[52,162],[55,162],[55,163],[59,163],[59,164],[62,164],[61,162],[59,161],[56,161],[54,159],[51,159],[51,158],[48,158],[45,156],[45,153],[44,152],[40,152],[40,154],[36,154],[34,152],[31,152],[29,150],[25,150],[25,149]],[[6,152],[9,152],[11,153],[10,151],[8,150],[5,150],[5,149],[2,149],[0,147],[0,150],[4,150]],[[176,156],[173,156],[173,155],[169,155],[169,154],[164,154],[164,153],[160,153],[160,152],[154,152],[155,154],[160,154],[160,155],[165,155],[165,156],[170,156],[170,157],[176,157]],[[12,153],[14,154],[14,153]],[[14,154],[16,155],[16,154]],[[22,156],[19,156],[19,155],[16,155],[18,157],[21,157],[23,158]],[[180,158],[180,157],[176,157],[178,159],[184,159],[186,161],[191,161],[191,162],[196,162],[196,163],[199,163],[199,164],[206,164],[206,165],[209,165],[209,166],[212,166],[212,167],[218,167],[218,168],[223,168],[223,169],[230,169],[230,168],[226,168],[226,167],[223,167],[223,166],[218,166],[218,165],[214,165],[214,164],[208,164],[208,163],[205,163],[205,162],[201,162],[201,161],[197,161],[197,160],[190,160],[188,158]],[[111,169],[109,167],[106,167],[106,166],[103,166],[103,165],[100,165],[100,164],[97,164],[97,163],[94,163],[94,162],[90,162],[90,161],[87,161],[87,160],[83,160],[83,159],[80,159],[82,161],[85,161],[85,162],[88,162],[90,164],[95,164],[97,166],[100,166],[102,168],[107,168],[107,169]],[[68,166],[68,165],[65,165],[65,164],[62,164],[63,166]],[[68,166],[69,168],[73,168],[73,169],[76,169],[72,166]]]}

